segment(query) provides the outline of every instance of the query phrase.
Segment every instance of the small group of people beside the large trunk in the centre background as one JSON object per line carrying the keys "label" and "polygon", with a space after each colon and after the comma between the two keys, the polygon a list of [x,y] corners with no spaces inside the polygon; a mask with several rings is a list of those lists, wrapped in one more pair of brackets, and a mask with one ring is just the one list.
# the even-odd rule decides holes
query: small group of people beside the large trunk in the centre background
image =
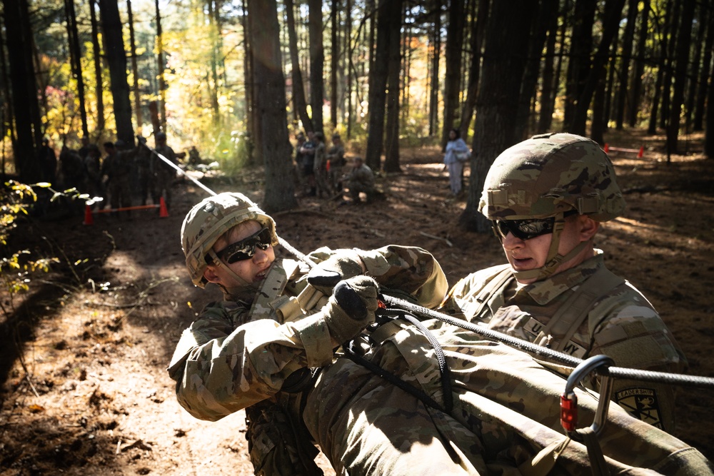
{"label": "small group of people beside the large trunk in the centre background", "polygon": [[[345,147],[338,133],[332,135],[332,146],[327,148],[322,132],[308,131],[296,135],[295,166],[303,196],[331,198],[343,203],[368,202],[378,192],[372,169],[361,157],[353,158],[348,170]],[[344,194],[350,201],[344,201]]]}

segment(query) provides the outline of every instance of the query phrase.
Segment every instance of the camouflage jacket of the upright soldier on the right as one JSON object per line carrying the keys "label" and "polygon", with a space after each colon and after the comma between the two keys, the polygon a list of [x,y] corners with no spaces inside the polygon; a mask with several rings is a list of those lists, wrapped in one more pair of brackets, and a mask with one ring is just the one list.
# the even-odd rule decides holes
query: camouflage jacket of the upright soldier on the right
{"label": "camouflage jacket of the upright soldier on the right", "polygon": [[[575,268],[519,287],[508,265],[495,266],[456,283],[443,310],[578,358],[605,354],[620,367],[681,373],[685,356],[657,311],[621,278],[596,284],[596,273],[609,273],[604,268],[603,252],[596,250]],[[501,283],[496,283],[499,278]],[[559,331],[555,325],[564,319],[565,308],[583,316],[566,340],[562,327]],[[640,420],[673,430],[675,389],[615,380],[613,400]]]}

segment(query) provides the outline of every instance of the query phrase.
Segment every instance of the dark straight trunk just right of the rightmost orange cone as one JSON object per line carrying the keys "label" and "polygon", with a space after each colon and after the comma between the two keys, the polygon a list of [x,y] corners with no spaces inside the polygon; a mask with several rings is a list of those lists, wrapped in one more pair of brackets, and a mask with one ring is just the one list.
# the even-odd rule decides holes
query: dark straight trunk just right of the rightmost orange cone
{"label": "dark straight trunk just right of the rightmost orange cone", "polygon": [[[667,128],[667,149],[670,153],[678,151],[679,123],[682,104],[684,103],[685,83],[689,66],[689,50],[692,44],[692,21],[694,19],[694,2],[685,1],[682,9],[682,21],[677,35],[677,50],[675,57],[674,91],[670,119]],[[670,156],[667,156],[670,161]]]}

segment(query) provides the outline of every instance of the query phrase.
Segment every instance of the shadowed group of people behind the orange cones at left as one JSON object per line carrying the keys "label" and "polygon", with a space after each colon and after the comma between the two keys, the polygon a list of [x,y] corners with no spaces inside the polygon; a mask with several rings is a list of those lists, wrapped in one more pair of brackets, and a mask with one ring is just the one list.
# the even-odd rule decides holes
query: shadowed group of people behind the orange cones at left
{"label": "shadowed group of people behind the orange cones at left", "polygon": [[[146,205],[149,195],[154,205],[163,197],[169,208],[176,169],[159,158],[159,154],[174,164],[178,164],[178,156],[167,145],[166,133],[156,133],[155,141],[153,151],[141,137],[136,146],[127,146],[121,139],[106,141],[102,144],[102,156],[99,146],[91,143],[89,137],[83,137],[76,151],[62,146],[58,161],[49,140],[45,139],[39,152],[41,181],[51,183],[57,191],[87,194],[93,207],[110,208],[112,214],[130,208],[136,198],[141,205]],[[77,208],[83,207],[84,202]]]}

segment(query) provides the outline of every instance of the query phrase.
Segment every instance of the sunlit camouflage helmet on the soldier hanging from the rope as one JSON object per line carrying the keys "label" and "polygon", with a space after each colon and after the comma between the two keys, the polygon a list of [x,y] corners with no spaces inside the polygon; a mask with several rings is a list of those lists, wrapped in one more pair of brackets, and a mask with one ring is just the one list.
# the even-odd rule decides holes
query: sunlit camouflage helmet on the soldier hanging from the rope
{"label": "sunlit camouflage helmet on the soldier hanging from the rope", "polygon": [[[181,226],[181,248],[193,284],[203,288],[206,255],[223,233],[244,221],[255,220],[271,232],[271,245],[278,244],[275,221],[242,193],[225,192],[204,198],[186,214]],[[210,258],[209,258],[210,260]]]}

